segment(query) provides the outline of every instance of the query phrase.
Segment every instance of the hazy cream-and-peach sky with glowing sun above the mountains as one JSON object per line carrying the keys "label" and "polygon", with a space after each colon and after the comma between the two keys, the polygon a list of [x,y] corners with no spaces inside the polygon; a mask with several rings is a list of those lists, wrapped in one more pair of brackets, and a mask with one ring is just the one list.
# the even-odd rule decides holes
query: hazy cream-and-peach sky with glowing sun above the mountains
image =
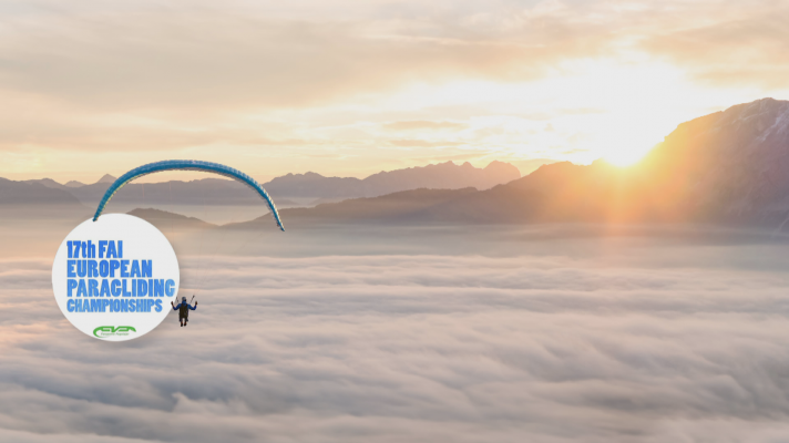
{"label": "hazy cream-and-peach sky with glowing sun above the mountains", "polygon": [[0,176],[626,163],[789,97],[789,1],[0,1]]}

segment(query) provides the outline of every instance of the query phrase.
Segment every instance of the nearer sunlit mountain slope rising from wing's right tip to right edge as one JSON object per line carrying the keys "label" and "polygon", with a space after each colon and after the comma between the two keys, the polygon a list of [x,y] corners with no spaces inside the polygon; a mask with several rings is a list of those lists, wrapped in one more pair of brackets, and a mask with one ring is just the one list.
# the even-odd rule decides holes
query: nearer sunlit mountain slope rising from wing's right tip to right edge
{"label": "nearer sunlit mountain slope rising from wing's right tip to right edge", "polygon": [[436,200],[422,189],[393,196],[284,210],[283,219],[330,220],[353,214],[399,223],[776,227],[789,218],[789,102],[764,99],[683,123],[628,168],[602,161],[587,166],[564,162],[486,190],[454,192]]}

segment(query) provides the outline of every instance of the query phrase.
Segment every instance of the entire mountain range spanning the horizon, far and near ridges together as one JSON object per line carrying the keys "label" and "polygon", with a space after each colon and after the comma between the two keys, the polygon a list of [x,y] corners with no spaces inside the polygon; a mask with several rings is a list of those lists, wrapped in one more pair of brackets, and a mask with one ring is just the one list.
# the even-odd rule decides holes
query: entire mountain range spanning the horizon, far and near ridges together
{"label": "entire mountain range spanning the horizon, far and near ridges together", "polygon": [[[449,163],[380,173],[365,179],[289,174],[268,182],[266,187],[275,198],[275,193],[294,198],[362,195],[315,207],[285,208],[281,216],[286,226],[353,222],[789,227],[789,102],[762,99],[683,123],[631,167],[616,167],[603,161],[591,165],[563,162],[543,165],[525,177],[518,177],[518,171],[512,169],[511,165],[494,162],[484,169]],[[484,188],[495,182],[491,177],[506,183]],[[508,181],[512,177],[515,178]],[[79,187],[48,179],[27,183],[0,179],[0,204],[20,204],[33,196],[33,200],[41,203],[60,202],[84,208],[80,202],[98,200],[112,179],[105,177],[104,183]],[[398,190],[406,186],[403,183],[422,187]],[[228,198],[232,203],[245,203],[242,197],[234,200],[229,195],[252,193],[237,192],[235,186],[240,185],[207,178],[132,184],[122,192],[126,192],[123,198],[130,202],[144,193],[153,202]],[[390,190],[396,192],[375,196]],[[141,197],[139,202],[144,202]],[[244,198],[259,204],[254,195]],[[140,215],[165,217],[154,213]],[[269,223],[266,217],[233,227]],[[180,223],[177,217],[165,218],[170,224]],[[188,223],[202,226],[199,220]]]}

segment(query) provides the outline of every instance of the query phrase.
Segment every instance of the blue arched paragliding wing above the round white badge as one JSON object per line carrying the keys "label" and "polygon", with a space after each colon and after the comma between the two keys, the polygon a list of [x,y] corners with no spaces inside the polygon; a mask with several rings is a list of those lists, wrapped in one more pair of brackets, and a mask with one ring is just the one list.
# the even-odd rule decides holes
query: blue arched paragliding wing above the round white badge
{"label": "blue arched paragliding wing above the round white badge", "polygon": [[99,216],[104,210],[104,206],[106,206],[112,196],[115,195],[115,193],[121,189],[126,183],[137,177],[142,177],[143,175],[148,175],[161,171],[201,171],[204,173],[224,175],[225,177],[242,182],[253,188],[256,193],[260,195],[260,197],[263,197],[264,200],[266,200],[266,203],[268,204],[268,208],[271,209],[274,219],[277,222],[277,226],[279,226],[279,229],[285,230],[283,222],[279,219],[279,213],[277,212],[277,207],[274,206],[271,197],[268,196],[266,189],[264,189],[263,186],[260,186],[253,177],[229,166],[221,165],[218,163],[201,162],[196,159],[166,159],[164,162],[148,163],[147,165],[135,167],[134,169],[123,174],[119,179],[115,181],[115,183],[112,184],[112,186],[110,186],[109,189],[106,189],[106,193],[104,193],[104,197],[101,199],[101,203],[99,203],[99,207],[96,208],[96,214],[93,216],[93,222],[99,219]]}

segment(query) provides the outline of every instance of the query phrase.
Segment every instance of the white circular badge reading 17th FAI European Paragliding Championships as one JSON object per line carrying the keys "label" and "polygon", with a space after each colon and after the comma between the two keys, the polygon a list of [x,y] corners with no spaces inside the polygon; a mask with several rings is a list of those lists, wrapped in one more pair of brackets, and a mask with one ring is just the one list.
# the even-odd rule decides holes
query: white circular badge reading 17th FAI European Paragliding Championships
{"label": "white circular badge reading 17th FAI European Paragliding Championships", "polygon": [[167,238],[126,214],[106,214],[75,227],[52,265],[60,310],[76,329],[106,341],[135,339],[156,328],[180,281]]}

